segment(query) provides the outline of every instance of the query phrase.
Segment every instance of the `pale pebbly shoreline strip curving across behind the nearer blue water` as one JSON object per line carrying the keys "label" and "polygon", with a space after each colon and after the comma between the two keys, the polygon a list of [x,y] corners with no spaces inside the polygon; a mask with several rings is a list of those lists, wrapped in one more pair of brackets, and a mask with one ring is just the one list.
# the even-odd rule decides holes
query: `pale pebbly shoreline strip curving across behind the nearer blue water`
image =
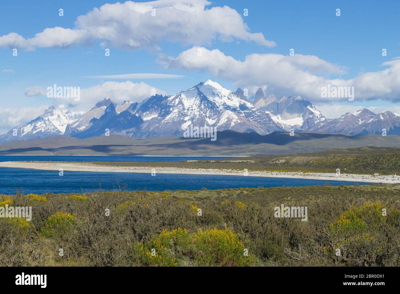
{"label": "pale pebbly shoreline strip curving across behind the nearer blue water", "polygon": [[[150,163],[150,162],[149,162]],[[56,170],[74,172],[133,172],[133,173],[152,173],[160,174],[208,174],[224,176],[244,176],[244,171],[225,170],[225,169],[192,169],[159,166],[106,166],[82,162],[0,162],[0,167],[4,168],[27,168],[34,170]],[[309,180],[337,180],[350,182],[370,182],[384,184],[400,183],[400,176],[372,176],[368,174],[340,174],[317,173],[317,172],[270,172],[270,171],[248,171],[247,176],[258,176],[268,178],[297,178]]]}

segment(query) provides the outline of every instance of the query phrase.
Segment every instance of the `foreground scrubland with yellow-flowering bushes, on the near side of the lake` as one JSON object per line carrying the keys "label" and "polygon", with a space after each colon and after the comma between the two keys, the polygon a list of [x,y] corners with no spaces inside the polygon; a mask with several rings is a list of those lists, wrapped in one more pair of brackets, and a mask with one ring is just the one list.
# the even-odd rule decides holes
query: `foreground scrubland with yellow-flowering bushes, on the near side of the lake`
{"label": "foreground scrubland with yellow-flowering bushes, on the near side of the lake", "polygon": [[[0,195],[32,206],[0,218],[0,266],[399,266],[399,188]],[[275,218],[281,204],[308,220]]]}

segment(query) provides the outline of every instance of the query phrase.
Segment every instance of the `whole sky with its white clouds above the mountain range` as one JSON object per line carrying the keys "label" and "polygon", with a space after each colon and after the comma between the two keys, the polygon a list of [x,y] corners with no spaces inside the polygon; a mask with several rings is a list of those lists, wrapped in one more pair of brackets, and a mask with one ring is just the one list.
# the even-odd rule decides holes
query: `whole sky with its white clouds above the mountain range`
{"label": "whole sky with its white clouds above the mountain range", "polygon": [[[249,96],[302,96],[327,118],[400,112],[399,11],[394,0],[7,1],[0,133],[52,104],[82,112],[106,96],[140,102],[208,79]],[[47,97],[54,84],[80,87],[80,99]],[[322,97],[327,85],[354,87],[354,100]]]}

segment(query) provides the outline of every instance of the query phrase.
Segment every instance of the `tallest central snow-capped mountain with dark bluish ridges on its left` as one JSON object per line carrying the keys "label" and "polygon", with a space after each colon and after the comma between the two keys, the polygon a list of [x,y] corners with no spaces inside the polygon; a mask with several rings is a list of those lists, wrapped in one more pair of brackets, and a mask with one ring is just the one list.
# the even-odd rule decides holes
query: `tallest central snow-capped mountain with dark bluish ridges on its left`
{"label": "tallest central snow-capped mountain with dark bluish ridges on its left", "polygon": [[[215,127],[221,131],[236,130],[259,134],[284,131],[269,114],[258,110],[237,93],[238,91],[232,92],[208,80],[172,96],[155,95],[140,104],[130,103],[120,113],[117,111],[118,106],[115,107],[108,101],[108,106],[100,117],[92,118],[85,128],[72,136],[101,136],[106,128],[110,130],[110,134],[125,136],[183,136],[191,124]],[[104,105],[103,100],[99,106]]]}

